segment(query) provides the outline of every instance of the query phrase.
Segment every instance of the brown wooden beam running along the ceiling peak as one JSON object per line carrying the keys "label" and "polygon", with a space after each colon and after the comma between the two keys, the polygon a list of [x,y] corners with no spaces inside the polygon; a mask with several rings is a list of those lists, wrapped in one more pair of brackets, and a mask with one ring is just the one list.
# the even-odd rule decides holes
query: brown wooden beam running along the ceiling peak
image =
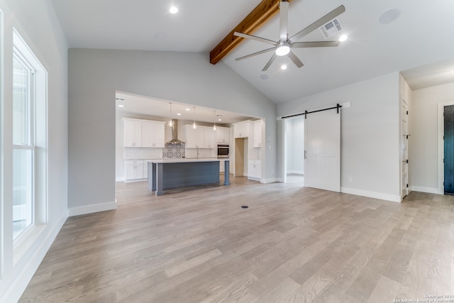
{"label": "brown wooden beam running along the ceiling peak", "polygon": [[255,6],[255,9],[253,9],[253,11],[236,26],[236,28],[233,28],[233,30],[226,35],[226,38],[223,38],[223,40],[211,50],[210,63],[216,64],[219,62],[219,60],[230,53],[230,51],[244,39],[233,35],[233,33],[238,31],[240,33],[252,34],[278,12],[279,0],[262,0],[262,2],[260,2],[258,6]]}

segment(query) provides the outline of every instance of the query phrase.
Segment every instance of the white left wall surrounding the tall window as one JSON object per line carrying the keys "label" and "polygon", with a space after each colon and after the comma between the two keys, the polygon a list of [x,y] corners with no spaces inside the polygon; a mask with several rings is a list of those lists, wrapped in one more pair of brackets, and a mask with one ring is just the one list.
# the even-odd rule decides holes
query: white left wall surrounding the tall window
{"label": "white left wall surrounding the tall window", "polygon": [[[0,302],[16,302],[67,218],[67,43],[49,0],[0,0],[0,10],[4,12]],[[16,263],[11,184],[13,27],[48,72],[48,224]]]}

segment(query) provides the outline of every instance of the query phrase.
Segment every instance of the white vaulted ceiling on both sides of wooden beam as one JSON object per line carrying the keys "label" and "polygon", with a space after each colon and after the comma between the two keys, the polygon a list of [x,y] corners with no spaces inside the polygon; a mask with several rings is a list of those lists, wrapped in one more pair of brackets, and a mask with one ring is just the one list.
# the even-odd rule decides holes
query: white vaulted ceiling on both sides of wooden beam
{"label": "white vaulted ceiling on both sides of wooden beam", "polygon": [[[202,52],[209,60],[209,52],[260,0],[52,3],[70,48]],[[169,12],[172,4],[178,6],[178,13]],[[262,72],[272,53],[236,61],[268,48],[253,40],[238,45],[221,62],[277,104],[397,71],[403,71],[414,89],[454,81],[454,72],[450,72],[454,70],[454,1],[292,0],[289,35],[341,4],[345,13],[339,19],[348,40],[337,48],[294,50],[304,67],[297,68],[287,57],[279,57]],[[387,15],[380,16],[389,9],[397,9],[399,16],[387,23]],[[254,35],[278,40],[278,15]],[[324,39],[317,30],[302,39],[311,40]],[[287,70],[280,69],[284,63],[288,63]]]}

